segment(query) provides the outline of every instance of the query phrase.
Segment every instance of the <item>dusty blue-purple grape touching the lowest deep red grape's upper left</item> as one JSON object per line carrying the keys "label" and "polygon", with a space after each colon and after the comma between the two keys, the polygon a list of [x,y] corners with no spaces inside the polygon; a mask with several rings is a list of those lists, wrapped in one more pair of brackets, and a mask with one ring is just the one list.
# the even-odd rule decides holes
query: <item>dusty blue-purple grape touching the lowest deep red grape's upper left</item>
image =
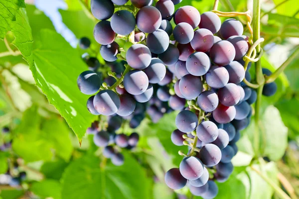
{"label": "dusty blue-purple grape touching the lowest deep red grape's upper left", "polygon": [[218,106],[218,96],[213,91],[204,91],[198,96],[197,104],[205,112],[212,112]]}

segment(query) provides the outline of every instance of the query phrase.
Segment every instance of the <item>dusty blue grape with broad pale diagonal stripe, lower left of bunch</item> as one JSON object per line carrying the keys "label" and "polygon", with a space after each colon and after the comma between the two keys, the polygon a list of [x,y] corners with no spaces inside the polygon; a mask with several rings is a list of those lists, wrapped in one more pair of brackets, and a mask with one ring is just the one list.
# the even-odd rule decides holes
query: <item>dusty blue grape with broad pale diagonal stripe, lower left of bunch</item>
{"label": "dusty blue grape with broad pale diagonal stripe, lower left of bunch", "polygon": [[119,96],[111,90],[102,90],[94,98],[94,107],[102,115],[113,115],[120,105]]}

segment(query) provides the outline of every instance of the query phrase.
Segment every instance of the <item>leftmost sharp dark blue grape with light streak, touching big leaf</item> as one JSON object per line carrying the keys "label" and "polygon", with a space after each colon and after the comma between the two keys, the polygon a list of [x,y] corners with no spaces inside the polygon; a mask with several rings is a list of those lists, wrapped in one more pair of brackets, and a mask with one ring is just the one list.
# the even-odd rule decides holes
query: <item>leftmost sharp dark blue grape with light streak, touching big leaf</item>
{"label": "leftmost sharp dark blue grape with light streak, touching big leaf", "polygon": [[81,93],[93,95],[97,93],[101,87],[101,78],[93,71],[84,71],[79,75],[77,85]]}

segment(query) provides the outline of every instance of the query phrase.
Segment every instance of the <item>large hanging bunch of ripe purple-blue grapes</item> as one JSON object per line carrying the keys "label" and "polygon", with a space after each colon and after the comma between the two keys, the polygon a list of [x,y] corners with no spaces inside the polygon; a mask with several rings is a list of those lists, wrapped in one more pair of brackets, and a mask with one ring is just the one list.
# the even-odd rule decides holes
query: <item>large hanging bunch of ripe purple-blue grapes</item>
{"label": "large hanging bunch of ripe purple-blue grapes", "polygon": [[[92,114],[122,117],[132,128],[145,112],[157,122],[164,113],[179,110],[171,141],[187,145],[189,152],[179,152],[184,158],[179,168],[167,171],[165,183],[175,190],[187,185],[193,195],[212,199],[218,193],[215,181],[225,182],[233,172],[236,142],[250,124],[251,104],[257,100],[257,92],[244,81],[251,82],[251,63],[245,70],[244,59],[250,38],[240,21],[221,23],[216,13],[200,14],[190,5],[175,10],[180,2],[91,0],[91,11],[100,20],[94,38],[111,71],[104,83],[96,71],[84,71],[77,84],[83,94],[92,95],[87,101]],[[81,40],[80,46],[87,47]],[[114,65],[120,63],[117,73]],[[267,69],[263,73],[271,75]],[[276,83],[266,84],[263,95],[276,90]],[[96,130],[95,143],[107,147],[110,137]],[[118,134],[112,142],[122,147],[127,139]]]}

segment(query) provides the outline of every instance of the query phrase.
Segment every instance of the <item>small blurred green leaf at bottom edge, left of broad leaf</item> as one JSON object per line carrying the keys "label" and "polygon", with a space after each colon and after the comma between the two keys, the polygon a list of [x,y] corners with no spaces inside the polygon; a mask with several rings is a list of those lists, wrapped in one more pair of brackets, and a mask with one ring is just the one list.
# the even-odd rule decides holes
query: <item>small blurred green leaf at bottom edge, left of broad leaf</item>
{"label": "small blurred green leaf at bottom edge, left of broad leaf", "polygon": [[41,198],[61,199],[61,185],[56,180],[34,182],[30,191]]}

